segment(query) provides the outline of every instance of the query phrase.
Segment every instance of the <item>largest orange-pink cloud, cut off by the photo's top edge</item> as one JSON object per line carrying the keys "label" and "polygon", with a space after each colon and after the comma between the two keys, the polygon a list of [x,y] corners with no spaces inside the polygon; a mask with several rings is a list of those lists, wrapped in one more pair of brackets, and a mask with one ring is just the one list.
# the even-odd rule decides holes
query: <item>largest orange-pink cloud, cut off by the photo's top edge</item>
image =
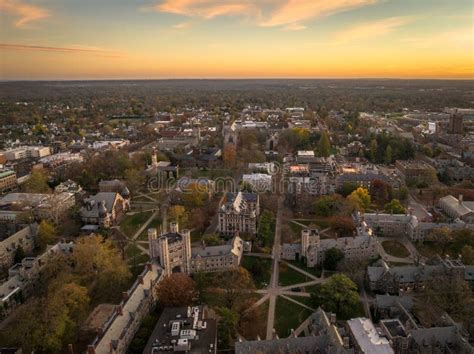
{"label": "largest orange-pink cloud, cut off by the photo's top edge", "polygon": [[176,15],[212,19],[217,16],[244,16],[262,27],[285,26],[304,29],[312,18],[328,16],[380,0],[164,0],[153,9]]}

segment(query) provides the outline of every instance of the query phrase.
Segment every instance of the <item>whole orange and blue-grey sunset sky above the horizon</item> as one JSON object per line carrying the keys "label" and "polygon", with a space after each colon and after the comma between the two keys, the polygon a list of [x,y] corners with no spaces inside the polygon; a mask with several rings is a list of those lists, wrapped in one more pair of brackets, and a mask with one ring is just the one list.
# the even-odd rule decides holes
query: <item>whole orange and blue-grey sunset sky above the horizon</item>
{"label": "whole orange and blue-grey sunset sky above the horizon", "polygon": [[0,79],[474,79],[471,0],[0,0]]}

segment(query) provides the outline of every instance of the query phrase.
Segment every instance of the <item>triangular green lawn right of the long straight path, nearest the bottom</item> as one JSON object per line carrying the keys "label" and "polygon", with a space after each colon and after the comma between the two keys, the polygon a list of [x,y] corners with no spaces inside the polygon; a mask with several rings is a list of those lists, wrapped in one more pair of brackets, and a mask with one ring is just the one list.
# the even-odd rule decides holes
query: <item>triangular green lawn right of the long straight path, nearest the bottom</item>
{"label": "triangular green lawn right of the long straight path, nearest the bottom", "polygon": [[297,329],[311,311],[294,302],[278,297],[275,308],[275,330],[280,338],[286,338],[292,329]]}

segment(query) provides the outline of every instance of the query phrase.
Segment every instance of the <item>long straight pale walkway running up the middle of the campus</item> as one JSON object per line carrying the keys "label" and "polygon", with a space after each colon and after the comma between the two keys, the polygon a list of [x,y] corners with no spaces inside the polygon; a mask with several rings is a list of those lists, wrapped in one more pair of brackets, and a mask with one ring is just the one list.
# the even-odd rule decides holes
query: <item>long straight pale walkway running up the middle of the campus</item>
{"label": "long straight pale walkway running up the middle of the campus", "polygon": [[278,212],[275,224],[275,238],[273,240],[273,249],[272,249],[272,275],[270,278],[270,286],[268,288],[269,298],[269,307],[268,307],[268,317],[267,317],[267,335],[266,339],[273,338],[273,328],[275,323],[275,307],[276,307],[276,292],[278,288],[278,272],[279,272],[279,261],[280,261],[280,240],[281,240],[281,217],[283,212],[283,196],[278,198]]}

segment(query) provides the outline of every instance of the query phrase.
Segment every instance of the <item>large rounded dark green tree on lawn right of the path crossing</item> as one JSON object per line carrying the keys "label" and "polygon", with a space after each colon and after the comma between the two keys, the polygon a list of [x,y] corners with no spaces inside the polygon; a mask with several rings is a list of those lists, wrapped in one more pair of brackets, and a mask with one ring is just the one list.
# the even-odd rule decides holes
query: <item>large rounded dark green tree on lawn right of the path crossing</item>
{"label": "large rounded dark green tree on lawn right of the path crossing", "polygon": [[335,274],[329,280],[317,286],[311,293],[315,308],[321,306],[325,311],[336,313],[341,319],[357,315],[359,293],[357,285],[344,274]]}

